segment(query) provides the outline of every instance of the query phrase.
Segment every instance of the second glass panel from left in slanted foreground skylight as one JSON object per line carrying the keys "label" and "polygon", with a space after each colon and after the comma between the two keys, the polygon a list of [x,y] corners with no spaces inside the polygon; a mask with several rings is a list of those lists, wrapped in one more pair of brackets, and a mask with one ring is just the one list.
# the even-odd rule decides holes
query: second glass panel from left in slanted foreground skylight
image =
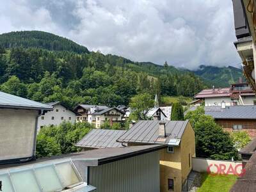
{"label": "second glass panel from left in slanted foreground skylight", "polygon": [[16,192],[40,192],[32,169],[11,170],[10,175]]}

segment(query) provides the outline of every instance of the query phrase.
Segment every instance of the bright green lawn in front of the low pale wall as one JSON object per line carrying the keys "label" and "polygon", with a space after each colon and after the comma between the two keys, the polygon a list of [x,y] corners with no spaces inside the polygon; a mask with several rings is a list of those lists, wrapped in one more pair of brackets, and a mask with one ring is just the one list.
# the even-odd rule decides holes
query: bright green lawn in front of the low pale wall
{"label": "bright green lawn in front of the low pale wall", "polygon": [[225,192],[229,191],[236,182],[236,175],[208,175],[202,173],[202,186],[196,192]]}

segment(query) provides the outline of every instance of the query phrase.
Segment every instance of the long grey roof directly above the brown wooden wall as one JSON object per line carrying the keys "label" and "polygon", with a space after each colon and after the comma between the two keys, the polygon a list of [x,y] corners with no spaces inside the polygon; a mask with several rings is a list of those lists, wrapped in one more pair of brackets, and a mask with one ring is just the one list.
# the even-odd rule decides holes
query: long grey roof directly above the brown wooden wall
{"label": "long grey roof directly above the brown wooden wall", "polygon": [[[189,108],[188,111],[194,111],[196,107]],[[256,106],[226,106],[204,107],[205,115],[210,115],[216,119],[256,119]],[[186,113],[188,113],[186,111]]]}

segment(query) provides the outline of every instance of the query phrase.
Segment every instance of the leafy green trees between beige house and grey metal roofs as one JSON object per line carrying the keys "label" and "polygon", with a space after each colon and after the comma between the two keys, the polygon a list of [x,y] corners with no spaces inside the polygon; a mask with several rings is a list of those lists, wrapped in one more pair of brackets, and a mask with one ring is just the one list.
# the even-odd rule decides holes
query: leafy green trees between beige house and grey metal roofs
{"label": "leafy green trees between beige house and grey metal roofs", "polygon": [[63,122],[56,126],[47,126],[37,135],[36,152],[38,157],[78,152],[74,146],[93,126],[88,123]]}

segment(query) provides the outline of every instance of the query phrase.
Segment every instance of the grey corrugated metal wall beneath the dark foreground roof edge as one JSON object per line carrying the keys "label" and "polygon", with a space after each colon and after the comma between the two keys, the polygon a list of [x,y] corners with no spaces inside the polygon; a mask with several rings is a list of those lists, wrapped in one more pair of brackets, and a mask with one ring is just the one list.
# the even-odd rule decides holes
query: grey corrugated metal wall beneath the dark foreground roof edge
{"label": "grey corrugated metal wall beneath the dark foreground roof edge", "polygon": [[97,192],[159,192],[159,151],[90,166],[89,173]]}

